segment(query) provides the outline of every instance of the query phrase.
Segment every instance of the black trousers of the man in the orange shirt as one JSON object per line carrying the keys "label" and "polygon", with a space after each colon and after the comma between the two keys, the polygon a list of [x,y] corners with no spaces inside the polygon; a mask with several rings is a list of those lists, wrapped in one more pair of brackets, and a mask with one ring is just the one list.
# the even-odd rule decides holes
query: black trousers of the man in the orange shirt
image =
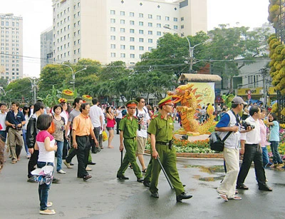
{"label": "black trousers of the man in the orange shirt", "polygon": [[77,177],[83,178],[88,175],[86,166],[88,163],[88,154],[90,151],[89,136],[76,136],[77,149],[76,156],[78,161]]}

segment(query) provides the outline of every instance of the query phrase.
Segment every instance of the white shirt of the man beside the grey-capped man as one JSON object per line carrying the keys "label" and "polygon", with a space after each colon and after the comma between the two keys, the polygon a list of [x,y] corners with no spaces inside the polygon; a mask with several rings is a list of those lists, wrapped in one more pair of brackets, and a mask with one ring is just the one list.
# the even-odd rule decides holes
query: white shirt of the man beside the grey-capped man
{"label": "white shirt of the man beside the grey-capped man", "polygon": [[252,116],[249,116],[245,121],[254,125],[255,128],[247,133],[242,133],[241,140],[245,140],[247,144],[259,144],[261,141],[259,120],[255,121]]}

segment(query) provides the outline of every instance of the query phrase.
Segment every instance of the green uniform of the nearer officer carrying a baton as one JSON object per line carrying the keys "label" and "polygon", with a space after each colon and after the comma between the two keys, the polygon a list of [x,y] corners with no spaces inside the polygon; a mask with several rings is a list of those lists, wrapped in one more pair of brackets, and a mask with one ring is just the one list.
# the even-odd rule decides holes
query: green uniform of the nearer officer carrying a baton
{"label": "green uniform of the nearer officer carrying a baton", "polygon": [[[173,134],[174,129],[173,119],[171,116],[167,116],[167,119],[159,113],[157,117],[150,121],[150,126],[148,127],[147,132],[155,135],[155,149],[160,156],[160,161],[165,168],[165,171],[170,178],[170,181],[175,188],[176,195],[184,193],[184,188],[180,182],[178,171],[176,168],[176,150],[175,147],[170,149],[169,146],[166,146],[164,143],[169,143]],[[152,159],[152,174],[150,181],[150,192],[157,192],[157,183],[158,176],[160,175],[160,165],[156,159]]]}

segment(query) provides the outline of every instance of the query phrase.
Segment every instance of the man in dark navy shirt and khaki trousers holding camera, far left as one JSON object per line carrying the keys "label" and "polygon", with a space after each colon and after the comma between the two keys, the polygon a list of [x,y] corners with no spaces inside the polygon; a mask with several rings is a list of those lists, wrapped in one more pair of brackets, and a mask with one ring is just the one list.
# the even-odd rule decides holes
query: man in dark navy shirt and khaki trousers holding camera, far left
{"label": "man in dark navy shirt and khaki trousers holding camera, far left", "polygon": [[[7,113],[5,124],[9,127],[9,141],[12,155],[12,164],[19,161],[21,149],[24,145],[23,133],[21,129],[26,123],[24,114],[19,111],[20,104],[17,102],[12,103],[12,110]],[[16,145],[17,144],[17,145]]]}

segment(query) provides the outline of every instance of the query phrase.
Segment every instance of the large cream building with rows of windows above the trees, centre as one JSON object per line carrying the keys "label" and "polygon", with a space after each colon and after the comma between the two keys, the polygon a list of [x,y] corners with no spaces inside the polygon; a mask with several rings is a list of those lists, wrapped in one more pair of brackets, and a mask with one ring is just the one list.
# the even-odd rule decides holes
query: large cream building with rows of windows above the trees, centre
{"label": "large cream building with rows of windows above the trees, centre", "polygon": [[207,31],[207,0],[53,0],[53,61],[133,65],[175,30]]}

